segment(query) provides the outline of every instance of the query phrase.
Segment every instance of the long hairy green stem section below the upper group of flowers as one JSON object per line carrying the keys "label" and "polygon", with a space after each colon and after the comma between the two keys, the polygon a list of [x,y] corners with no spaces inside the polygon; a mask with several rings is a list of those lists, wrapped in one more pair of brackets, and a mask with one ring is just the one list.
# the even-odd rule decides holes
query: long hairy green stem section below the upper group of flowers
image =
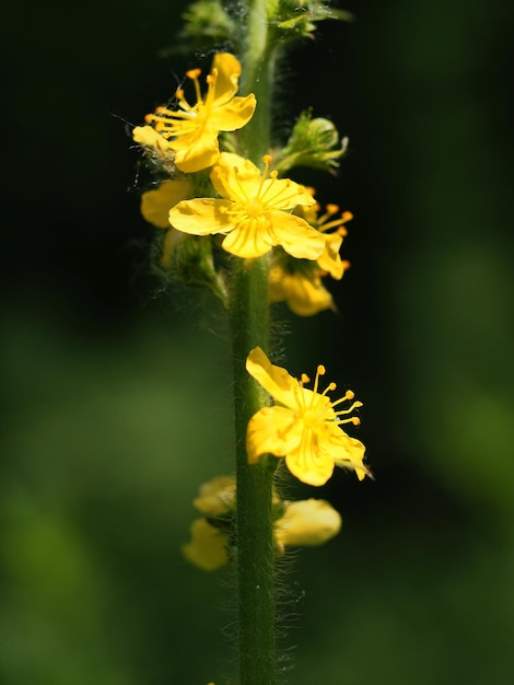
{"label": "long hairy green stem section below the upper group of flowers", "polygon": [[233,278],[231,323],[234,364],[240,685],[276,682],[272,480],[276,460],[249,465],[246,427],[269,404],[246,371],[246,358],[269,338],[268,259],[260,257]]}

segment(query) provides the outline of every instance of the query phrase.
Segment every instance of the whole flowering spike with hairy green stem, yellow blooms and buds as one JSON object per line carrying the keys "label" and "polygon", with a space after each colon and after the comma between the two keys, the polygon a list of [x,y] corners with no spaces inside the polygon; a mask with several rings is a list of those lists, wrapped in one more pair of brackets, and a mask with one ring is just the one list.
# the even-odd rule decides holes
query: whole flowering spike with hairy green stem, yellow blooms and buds
{"label": "whole flowering spike with hairy green stem, yellow blooms and buds", "polygon": [[[341,519],[324,499],[283,499],[276,471],[320,487],[336,466],[371,476],[364,445],[346,432],[362,403],[312,390],[270,361],[270,306],[287,302],[302,316],[335,310],[325,276],[339,280],[351,213],[322,211],[312,188],[294,181],[306,166],[334,174],[347,148],[336,126],[303,112],[289,139],[273,131],[277,58],[284,45],[311,36],[326,19],[348,20],[323,1],[247,0],[231,14],[219,0],[197,0],[182,37],[213,49],[207,77],[195,66],[172,104],[157,106],[132,130],[152,186],[141,195],[143,218],[159,229],[159,266],[184,282],[209,288],[227,313],[232,335],[235,476],[200,488],[184,555],[203,570],[237,568],[241,685],[273,685],[277,676],[274,560],[290,546],[319,545]],[[208,27],[209,31],[207,30]],[[226,35],[225,35],[226,34]],[[238,94],[240,90],[242,91]],[[192,96],[191,96],[192,95]]]}

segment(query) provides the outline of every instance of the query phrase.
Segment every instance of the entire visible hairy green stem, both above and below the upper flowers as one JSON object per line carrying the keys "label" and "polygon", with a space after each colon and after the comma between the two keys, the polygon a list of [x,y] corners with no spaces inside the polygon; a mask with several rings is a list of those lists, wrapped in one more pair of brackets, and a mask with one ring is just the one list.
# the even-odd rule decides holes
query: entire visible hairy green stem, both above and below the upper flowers
{"label": "entire visible hairy green stem, both above and below the upper flowers", "polygon": [[[268,46],[266,0],[247,0],[242,57],[242,94],[254,93],[255,114],[241,131],[241,152],[256,164],[268,153],[273,59]],[[246,428],[268,394],[246,371],[246,358],[259,346],[269,351],[269,256],[238,260],[231,280],[235,439],[237,478],[237,585],[240,685],[276,683],[276,605],[272,487],[277,460],[248,464]]]}

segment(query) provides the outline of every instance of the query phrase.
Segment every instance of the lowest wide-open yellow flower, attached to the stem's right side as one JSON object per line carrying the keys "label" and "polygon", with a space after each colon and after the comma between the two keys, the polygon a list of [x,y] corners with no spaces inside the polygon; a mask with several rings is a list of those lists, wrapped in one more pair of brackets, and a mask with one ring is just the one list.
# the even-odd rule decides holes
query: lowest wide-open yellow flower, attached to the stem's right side
{"label": "lowest wide-open yellow flower, attached to the stem's right side", "polygon": [[363,463],[364,445],[341,428],[343,423],[360,423],[357,417],[348,415],[362,403],[353,402],[348,409],[337,409],[354,395],[347,391],[343,397],[330,402],[327,392],[336,390],[335,383],[318,393],[325,367],[317,368],[312,391],[304,387],[308,376],[302,374],[301,381],[293,379],[285,369],[271,364],[259,347],[248,355],[246,369],[280,404],[259,409],[248,422],[246,448],[250,464],[262,454],[284,456],[289,471],[314,486],[327,483],[336,465],[354,469],[360,480],[371,475]]}

